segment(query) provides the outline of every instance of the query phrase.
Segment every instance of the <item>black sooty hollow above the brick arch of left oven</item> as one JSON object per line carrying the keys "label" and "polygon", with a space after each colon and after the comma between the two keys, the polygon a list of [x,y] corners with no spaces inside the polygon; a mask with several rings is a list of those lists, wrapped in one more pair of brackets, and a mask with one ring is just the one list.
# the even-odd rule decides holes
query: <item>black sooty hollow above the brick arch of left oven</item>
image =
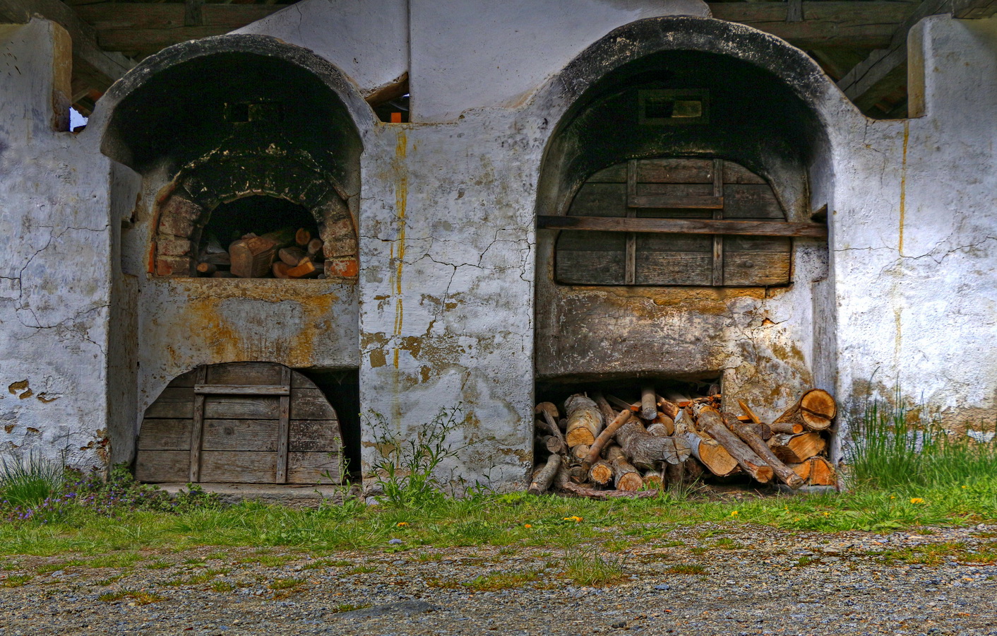
{"label": "black sooty hollow above the brick arch of left oven", "polygon": [[[178,45],[173,48],[183,47],[181,52],[167,49],[144,63],[151,68],[140,67],[122,80],[131,86],[118,91],[125,97],[115,107],[102,151],[139,172],[167,161],[173,173],[223,146],[233,122],[261,116],[275,139],[308,153],[340,184],[355,181],[360,137],[342,99],[322,78],[294,60],[266,54],[286,45],[254,41],[258,52],[212,46],[230,45],[221,38]],[[170,58],[180,59],[165,66]],[[291,150],[286,143],[282,151]]]}

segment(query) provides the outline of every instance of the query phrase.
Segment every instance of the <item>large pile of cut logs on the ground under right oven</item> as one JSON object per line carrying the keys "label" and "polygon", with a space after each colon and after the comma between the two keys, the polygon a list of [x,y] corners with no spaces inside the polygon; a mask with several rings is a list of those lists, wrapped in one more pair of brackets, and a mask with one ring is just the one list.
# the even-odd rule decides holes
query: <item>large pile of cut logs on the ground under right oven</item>
{"label": "large pile of cut logs on the ground under right oven", "polygon": [[[592,498],[651,496],[668,484],[744,474],[791,488],[833,485],[827,431],[836,413],[828,391],[812,388],[772,423],[743,400],[721,410],[721,395],[690,397],[654,386],[630,403],[596,391],[536,405],[538,469],[529,492]],[[544,455],[545,458],[544,458]]]}

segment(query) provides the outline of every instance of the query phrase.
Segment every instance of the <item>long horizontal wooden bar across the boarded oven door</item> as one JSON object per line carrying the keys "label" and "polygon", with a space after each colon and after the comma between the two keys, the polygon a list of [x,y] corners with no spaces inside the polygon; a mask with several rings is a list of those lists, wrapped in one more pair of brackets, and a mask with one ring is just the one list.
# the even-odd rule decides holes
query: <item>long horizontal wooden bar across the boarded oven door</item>
{"label": "long horizontal wooden bar across the boarded oven door", "polygon": [[828,227],[819,223],[785,221],[730,221],[727,219],[631,219],[624,217],[536,218],[540,230],[593,232],[646,232],[653,234],[742,235],[758,237],[827,238]]}

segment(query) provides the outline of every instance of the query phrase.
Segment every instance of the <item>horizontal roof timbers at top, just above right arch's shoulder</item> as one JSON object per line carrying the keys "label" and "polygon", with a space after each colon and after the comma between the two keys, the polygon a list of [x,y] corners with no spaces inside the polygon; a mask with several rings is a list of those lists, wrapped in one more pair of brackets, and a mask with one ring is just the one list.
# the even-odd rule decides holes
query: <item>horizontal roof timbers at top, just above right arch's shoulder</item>
{"label": "horizontal roof timbers at top, just above right arch's shoulder", "polygon": [[889,46],[893,33],[916,4],[881,0],[804,2],[802,6],[788,2],[709,3],[714,18],[771,33],[801,49]]}

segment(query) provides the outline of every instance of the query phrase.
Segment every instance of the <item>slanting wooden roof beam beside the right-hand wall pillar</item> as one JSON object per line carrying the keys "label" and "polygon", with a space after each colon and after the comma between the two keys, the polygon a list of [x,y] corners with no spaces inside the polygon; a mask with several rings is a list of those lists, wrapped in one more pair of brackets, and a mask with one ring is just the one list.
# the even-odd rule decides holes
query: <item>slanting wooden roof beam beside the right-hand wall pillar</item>
{"label": "slanting wooden roof beam beside the right-hand wall pillar", "polygon": [[948,13],[951,0],[924,0],[907,16],[890,38],[889,46],[876,49],[848,71],[837,86],[862,112],[907,84],[907,32],[922,19]]}

